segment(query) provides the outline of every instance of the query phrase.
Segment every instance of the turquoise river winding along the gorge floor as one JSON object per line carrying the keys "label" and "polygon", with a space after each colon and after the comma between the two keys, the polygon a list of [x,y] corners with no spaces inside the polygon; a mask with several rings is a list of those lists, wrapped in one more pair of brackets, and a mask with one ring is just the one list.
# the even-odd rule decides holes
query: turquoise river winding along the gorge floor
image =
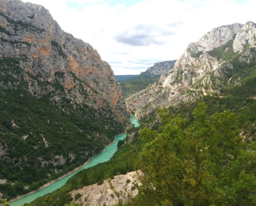
{"label": "turquoise river winding along the gorge floor", "polygon": [[[130,117],[130,121],[131,121],[132,124],[134,124],[134,127],[139,127],[140,126],[139,123],[137,122],[137,120],[134,118],[134,116]],[[52,184],[50,184],[47,187],[42,188],[41,190],[38,190],[38,191],[36,191],[32,194],[26,195],[26,196],[24,196],[24,197],[22,197],[18,200],[15,200],[13,202],[9,202],[9,204],[11,206],[21,206],[25,203],[32,202],[36,198],[41,197],[41,196],[43,196],[47,193],[51,193],[51,192],[57,190],[57,188],[62,187],[70,177],[77,174],[80,170],[86,169],[88,167],[95,166],[96,164],[101,163],[101,162],[108,161],[114,155],[115,151],[117,150],[118,141],[119,140],[124,140],[125,138],[126,138],[126,133],[116,136],[114,143],[112,143],[111,145],[106,147],[106,150],[102,151],[99,155],[95,156],[93,159],[88,161],[88,163],[85,164],[80,169],[78,169],[78,170],[74,171],[73,173],[63,177],[62,179],[59,179],[59,180],[53,182]]]}

